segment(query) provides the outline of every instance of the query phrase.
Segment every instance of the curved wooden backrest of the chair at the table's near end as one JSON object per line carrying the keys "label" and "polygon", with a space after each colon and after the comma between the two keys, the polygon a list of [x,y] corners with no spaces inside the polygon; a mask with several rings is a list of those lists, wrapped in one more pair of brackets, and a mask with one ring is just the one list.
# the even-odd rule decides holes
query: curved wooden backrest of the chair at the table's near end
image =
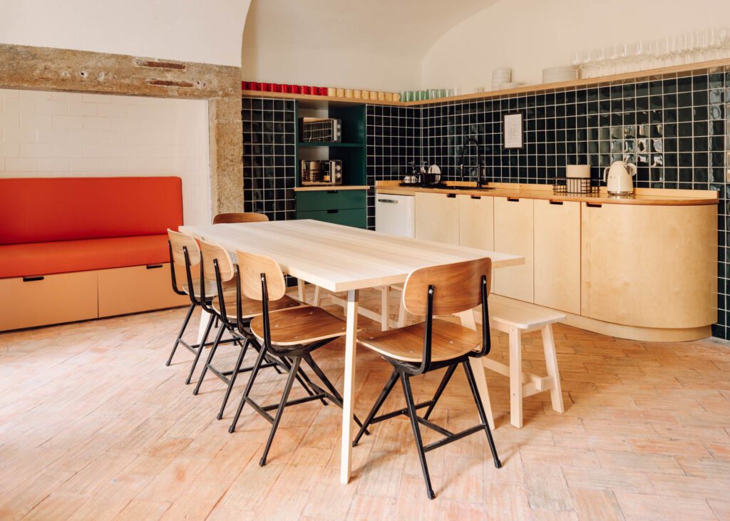
{"label": "curved wooden backrest of the chair at the table's near end", "polygon": [[429,286],[434,287],[434,315],[453,314],[482,304],[482,276],[491,285],[490,258],[429,266],[412,271],[403,287],[403,304],[412,314],[426,314]]}

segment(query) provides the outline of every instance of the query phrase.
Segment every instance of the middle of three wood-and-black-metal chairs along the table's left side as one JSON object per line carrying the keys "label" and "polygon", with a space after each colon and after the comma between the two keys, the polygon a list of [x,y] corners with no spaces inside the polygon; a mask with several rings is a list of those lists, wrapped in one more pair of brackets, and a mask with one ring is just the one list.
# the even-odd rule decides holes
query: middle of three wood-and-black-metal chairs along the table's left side
{"label": "middle of three wood-and-black-metal chairs along the table's left side", "polygon": [[[253,214],[258,215],[258,214]],[[250,332],[250,322],[254,317],[261,314],[261,304],[258,301],[254,301],[250,298],[246,298],[241,294],[241,288],[238,278],[237,268],[234,267],[231,256],[228,255],[223,247],[216,244],[210,244],[205,241],[200,241],[201,250],[201,263],[200,263],[200,293],[202,298],[202,307],[205,311],[214,315],[220,321],[220,329],[218,334],[213,341],[208,359],[203,366],[198,384],[193,391],[193,394],[198,394],[203,379],[207,371],[211,371],[218,377],[223,383],[226,384],[226,394],[223,397],[223,403],[220,405],[220,411],[218,412],[218,420],[223,417],[223,412],[226,409],[228,398],[231,395],[231,390],[236,383],[238,374],[251,371],[253,366],[242,367],[243,360],[246,356],[246,352],[249,346],[252,346],[256,352],[261,350],[261,345],[256,340],[255,336]],[[224,287],[231,282],[236,283],[235,293],[226,292]],[[212,298],[210,304],[206,304],[208,295],[205,287],[212,283],[216,288],[216,296]],[[275,312],[281,309],[291,309],[298,306],[304,306],[301,302],[294,300],[291,297],[283,296],[277,301],[270,303],[270,311]],[[223,333],[228,331],[233,339],[236,339],[240,347],[239,356],[234,368],[224,371],[213,365],[213,358],[215,352],[218,350],[218,345],[222,343]],[[242,342],[242,343],[241,343]],[[277,373],[281,374],[281,370],[289,371],[291,365],[287,360],[280,360],[274,358],[271,355],[266,356],[266,360],[261,364],[260,368],[273,367]],[[308,377],[304,374],[304,371],[299,370],[297,377],[299,382],[307,390],[307,393],[313,395],[314,393],[308,387]]]}

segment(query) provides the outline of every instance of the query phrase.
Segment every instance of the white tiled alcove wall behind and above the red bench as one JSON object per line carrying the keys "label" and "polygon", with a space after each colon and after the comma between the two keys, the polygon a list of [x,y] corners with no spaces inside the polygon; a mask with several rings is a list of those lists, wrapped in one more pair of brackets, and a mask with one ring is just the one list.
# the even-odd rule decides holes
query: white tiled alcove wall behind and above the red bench
{"label": "white tiled alcove wall behind and above the red bench", "polygon": [[0,89],[0,177],[174,175],[210,223],[207,101]]}

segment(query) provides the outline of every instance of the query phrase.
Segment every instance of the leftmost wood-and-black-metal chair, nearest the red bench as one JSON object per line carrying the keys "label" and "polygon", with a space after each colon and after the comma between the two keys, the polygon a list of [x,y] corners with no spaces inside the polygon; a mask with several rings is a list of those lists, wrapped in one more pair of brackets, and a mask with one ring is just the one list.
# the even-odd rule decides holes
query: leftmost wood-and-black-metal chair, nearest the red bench
{"label": "leftmost wood-and-black-metal chair, nearest the red bench", "polygon": [[[207,339],[210,335],[210,330],[213,327],[215,317],[213,315],[210,315],[210,318],[205,327],[203,339],[200,344],[188,343],[187,341],[183,340],[183,335],[185,334],[185,329],[188,327],[188,323],[190,322],[190,319],[193,316],[193,312],[195,311],[195,309],[203,306],[203,304],[209,304],[212,300],[212,296],[201,298],[201,291],[199,290],[199,279],[193,277],[193,270],[199,266],[201,261],[200,247],[198,246],[198,242],[196,241],[196,239],[193,239],[193,237],[191,236],[181,234],[178,231],[172,230],[167,231],[167,239],[167,247],[170,255],[170,277],[172,279],[172,290],[178,295],[189,296],[190,307],[188,308],[188,313],[185,314],[185,320],[183,320],[183,325],[180,328],[180,333],[177,333],[177,338],[175,339],[175,342],[172,346],[172,352],[170,352],[169,358],[167,358],[167,362],[165,363],[165,365],[169,366],[172,363],[172,358],[175,355],[177,346],[183,344],[183,347],[185,347],[185,349],[195,355],[193,363],[191,364],[190,373],[188,374],[188,379],[185,380],[185,384],[189,384],[193,379],[193,373],[195,372],[195,368],[198,365],[198,360],[202,352],[201,347],[210,347],[213,344],[212,342],[208,342]],[[177,285],[177,276],[175,272],[176,267],[178,269],[185,269],[185,282],[183,282],[181,286]],[[226,290],[228,290],[228,292],[235,291],[235,281],[231,281],[231,283],[227,285]],[[210,295],[212,295],[213,287],[209,285],[207,292],[204,293],[210,293]]]}

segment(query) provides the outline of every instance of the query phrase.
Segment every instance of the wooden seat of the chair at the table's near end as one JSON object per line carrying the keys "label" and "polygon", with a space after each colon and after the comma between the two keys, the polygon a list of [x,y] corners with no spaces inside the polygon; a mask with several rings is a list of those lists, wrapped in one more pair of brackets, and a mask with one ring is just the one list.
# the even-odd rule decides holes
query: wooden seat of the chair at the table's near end
{"label": "wooden seat of the chair at the table's near end", "polygon": [[[431,334],[431,360],[441,362],[477,350],[482,344],[482,333],[473,329],[434,319]],[[426,323],[407,325],[404,328],[368,332],[358,336],[358,342],[389,358],[404,362],[420,363],[423,358],[423,337]]]}

